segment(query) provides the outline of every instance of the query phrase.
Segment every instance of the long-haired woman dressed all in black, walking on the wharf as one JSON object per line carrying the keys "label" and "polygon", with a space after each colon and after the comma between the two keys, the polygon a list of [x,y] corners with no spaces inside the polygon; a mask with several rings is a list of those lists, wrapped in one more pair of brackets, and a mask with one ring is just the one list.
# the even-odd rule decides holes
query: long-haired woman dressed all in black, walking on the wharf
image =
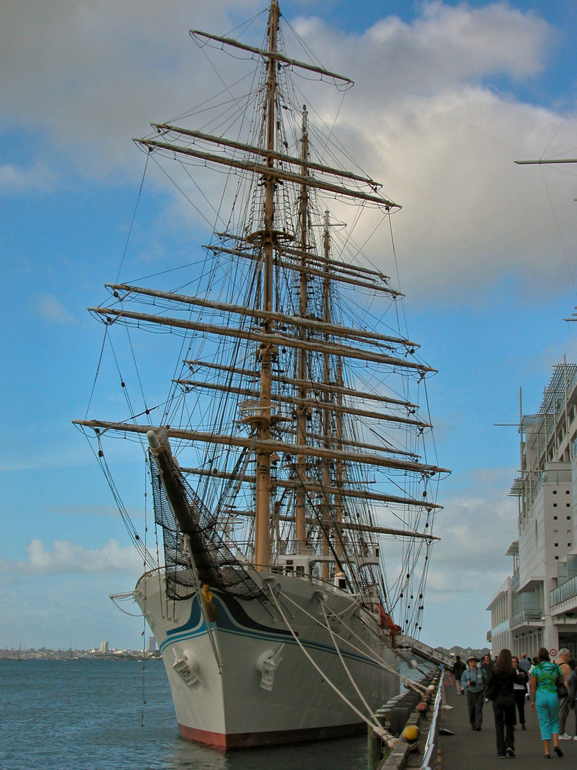
{"label": "long-haired woman dressed all in black, walking on the wharf", "polygon": [[493,701],[497,756],[501,759],[515,756],[515,698],[513,685],[517,681],[511,651],[504,649],[487,678],[487,695]]}

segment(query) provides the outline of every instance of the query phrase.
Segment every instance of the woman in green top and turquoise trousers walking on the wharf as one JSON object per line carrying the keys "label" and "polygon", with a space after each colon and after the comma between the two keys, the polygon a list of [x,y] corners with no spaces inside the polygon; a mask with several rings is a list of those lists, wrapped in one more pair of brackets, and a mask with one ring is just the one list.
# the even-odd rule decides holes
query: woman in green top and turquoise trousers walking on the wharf
{"label": "woman in green top and turquoise trousers walking on the wharf", "polygon": [[531,672],[529,693],[531,711],[537,709],[541,740],[545,749],[545,758],[549,758],[549,747],[553,738],[553,750],[558,757],[563,756],[559,748],[559,695],[557,695],[557,677],[559,667],[551,662],[547,648],[542,647],[537,654],[537,665]]}

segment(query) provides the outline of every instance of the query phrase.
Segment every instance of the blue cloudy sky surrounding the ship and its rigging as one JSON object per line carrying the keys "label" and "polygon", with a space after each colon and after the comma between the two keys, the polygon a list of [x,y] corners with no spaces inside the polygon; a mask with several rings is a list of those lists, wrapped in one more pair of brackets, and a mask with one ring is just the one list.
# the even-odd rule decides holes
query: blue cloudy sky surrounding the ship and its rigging
{"label": "blue cloudy sky surrounding the ship and its rigging", "polygon": [[[143,165],[131,139],[214,87],[188,30],[233,34],[265,5],[0,4],[0,648],[139,648],[148,635],[108,598],[132,590],[142,563],[72,426],[102,344],[86,308],[121,264],[138,274],[188,243],[171,189],[152,176],[125,253]],[[520,393],[535,412],[552,367],[577,362],[564,321],[577,304],[577,166],[513,162],[577,156],[577,5],[281,9],[327,69],[355,80],[335,129],[402,204],[405,314],[439,370],[429,404],[439,464],[452,469],[421,638],[480,647],[485,608],[512,570]],[[134,487],[142,499],[142,469]],[[130,513],[144,527],[142,508]]]}

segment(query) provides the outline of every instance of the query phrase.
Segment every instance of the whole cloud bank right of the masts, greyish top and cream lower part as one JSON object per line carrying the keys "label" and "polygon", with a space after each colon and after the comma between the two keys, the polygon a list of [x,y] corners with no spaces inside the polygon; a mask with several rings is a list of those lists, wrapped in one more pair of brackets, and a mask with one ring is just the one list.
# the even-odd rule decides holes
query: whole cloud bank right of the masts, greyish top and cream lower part
{"label": "whole cloud bank right of the masts, greyish top and cream lower part", "polygon": [[[555,293],[568,280],[557,233],[575,231],[573,178],[545,189],[538,169],[513,161],[538,157],[563,120],[548,152],[571,148],[577,119],[503,89],[545,69],[557,33],[506,4],[422,8],[410,24],[385,18],[359,37],[340,35],[339,45],[319,20],[297,23],[323,62],[355,78],[335,133],[403,206],[393,218],[402,289],[430,302],[469,301],[471,286],[486,291],[514,273]],[[328,121],[340,95],[322,96]],[[372,253],[381,265],[384,240]],[[567,253],[575,247],[565,242]]]}

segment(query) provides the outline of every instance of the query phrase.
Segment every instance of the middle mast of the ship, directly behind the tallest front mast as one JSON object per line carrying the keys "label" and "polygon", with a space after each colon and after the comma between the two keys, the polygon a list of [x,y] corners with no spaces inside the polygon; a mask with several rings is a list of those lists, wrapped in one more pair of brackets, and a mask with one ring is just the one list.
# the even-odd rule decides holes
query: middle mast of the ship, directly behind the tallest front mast
{"label": "middle mast of the ship, directly behind the tallest front mast", "polygon": [[[305,163],[309,157],[309,124],[308,124],[308,112],[306,107],[302,108],[302,175],[307,174]],[[309,295],[307,291],[307,247],[309,236],[309,189],[306,185],[302,185],[301,188],[301,200],[300,200],[300,227],[301,227],[301,280],[299,289],[299,314],[301,318],[305,318],[308,312]],[[306,330],[304,327],[300,329],[301,339],[306,339]],[[305,405],[305,401],[308,396],[308,388],[304,385],[307,380],[307,356],[306,351],[301,348],[299,350],[299,380],[303,383],[299,386],[299,407],[297,407],[296,414],[296,434],[297,444],[306,444],[306,415],[308,407]],[[299,457],[297,462],[297,475],[300,484],[297,485],[295,492],[295,551],[299,551],[299,547],[305,544],[306,541],[306,496],[303,482],[306,478],[306,458]]]}

